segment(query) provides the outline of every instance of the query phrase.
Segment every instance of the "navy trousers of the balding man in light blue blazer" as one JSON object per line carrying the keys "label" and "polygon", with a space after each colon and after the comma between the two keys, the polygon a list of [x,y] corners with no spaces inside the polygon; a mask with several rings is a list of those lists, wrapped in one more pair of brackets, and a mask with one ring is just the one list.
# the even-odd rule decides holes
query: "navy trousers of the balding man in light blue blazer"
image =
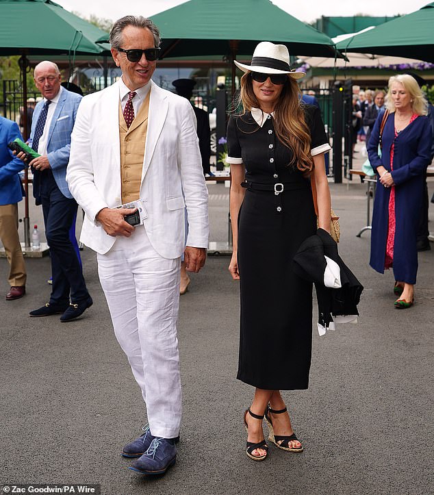
{"label": "navy trousers of the balding man in light blue blazer", "polygon": [[77,202],[66,198],[50,169],[40,174],[39,197],[44,214],[45,237],[50,246],[53,285],[50,304],[77,303],[89,296],[81,264],[69,236],[77,215]]}

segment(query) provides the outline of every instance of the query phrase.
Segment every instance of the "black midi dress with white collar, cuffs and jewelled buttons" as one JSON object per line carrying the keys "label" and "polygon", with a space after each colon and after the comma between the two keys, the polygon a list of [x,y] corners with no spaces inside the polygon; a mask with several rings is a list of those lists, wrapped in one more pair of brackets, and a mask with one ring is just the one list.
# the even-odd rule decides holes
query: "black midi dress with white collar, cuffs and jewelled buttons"
{"label": "black midi dress with white collar, cuffs and jewelled buttons", "polygon": [[[305,115],[311,153],[330,149],[318,108],[305,105]],[[251,112],[231,116],[227,142],[229,163],[246,168],[246,194],[238,215],[237,378],[268,390],[306,389],[312,285],[293,272],[292,259],[301,243],[316,232],[309,180],[288,165],[291,151],[275,136],[271,115],[265,114],[261,127]]]}

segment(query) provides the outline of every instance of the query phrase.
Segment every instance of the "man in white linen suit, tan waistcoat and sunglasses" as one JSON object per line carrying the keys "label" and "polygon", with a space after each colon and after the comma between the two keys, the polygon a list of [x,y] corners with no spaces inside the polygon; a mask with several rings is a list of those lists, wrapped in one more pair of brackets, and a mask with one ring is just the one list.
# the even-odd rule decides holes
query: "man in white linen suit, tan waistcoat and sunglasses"
{"label": "man in white linen suit, tan waistcoat and sunglasses", "polygon": [[[146,403],[149,427],[122,451],[140,457],[131,469],[144,474],[162,474],[175,464],[181,254],[187,269],[199,272],[209,234],[192,106],[151,81],[159,42],[157,27],[142,16],[114,23],[112,56],[123,75],[82,99],[66,175],[86,212],[81,242],[97,251],[116,338]],[[136,200],[141,223],[133,227],[125,215],[135,210],[116,207]]]}

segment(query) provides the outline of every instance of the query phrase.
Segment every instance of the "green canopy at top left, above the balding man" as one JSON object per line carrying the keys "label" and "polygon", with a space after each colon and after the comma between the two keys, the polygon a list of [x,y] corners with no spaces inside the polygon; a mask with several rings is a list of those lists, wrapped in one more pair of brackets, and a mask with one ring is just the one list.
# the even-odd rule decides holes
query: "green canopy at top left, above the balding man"
{"label": "green canopy at top left, above the balding man", "polygon": [[0,0],[0,55],[94,53],[107,34],[51,0]]}

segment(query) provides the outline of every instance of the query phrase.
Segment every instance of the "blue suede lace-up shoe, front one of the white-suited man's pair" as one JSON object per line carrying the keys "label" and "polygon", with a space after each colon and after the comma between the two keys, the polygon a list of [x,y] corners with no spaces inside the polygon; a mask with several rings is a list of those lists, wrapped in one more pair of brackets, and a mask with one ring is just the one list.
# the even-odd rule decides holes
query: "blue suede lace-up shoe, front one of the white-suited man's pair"
{"label": "blue suede lace-up shoe, front one of the white-suited man's pair", "polygon": [[173,439],[152,437],[149,448],[129,469],[142,474],[164,474],[176,460],[177,448]]}

